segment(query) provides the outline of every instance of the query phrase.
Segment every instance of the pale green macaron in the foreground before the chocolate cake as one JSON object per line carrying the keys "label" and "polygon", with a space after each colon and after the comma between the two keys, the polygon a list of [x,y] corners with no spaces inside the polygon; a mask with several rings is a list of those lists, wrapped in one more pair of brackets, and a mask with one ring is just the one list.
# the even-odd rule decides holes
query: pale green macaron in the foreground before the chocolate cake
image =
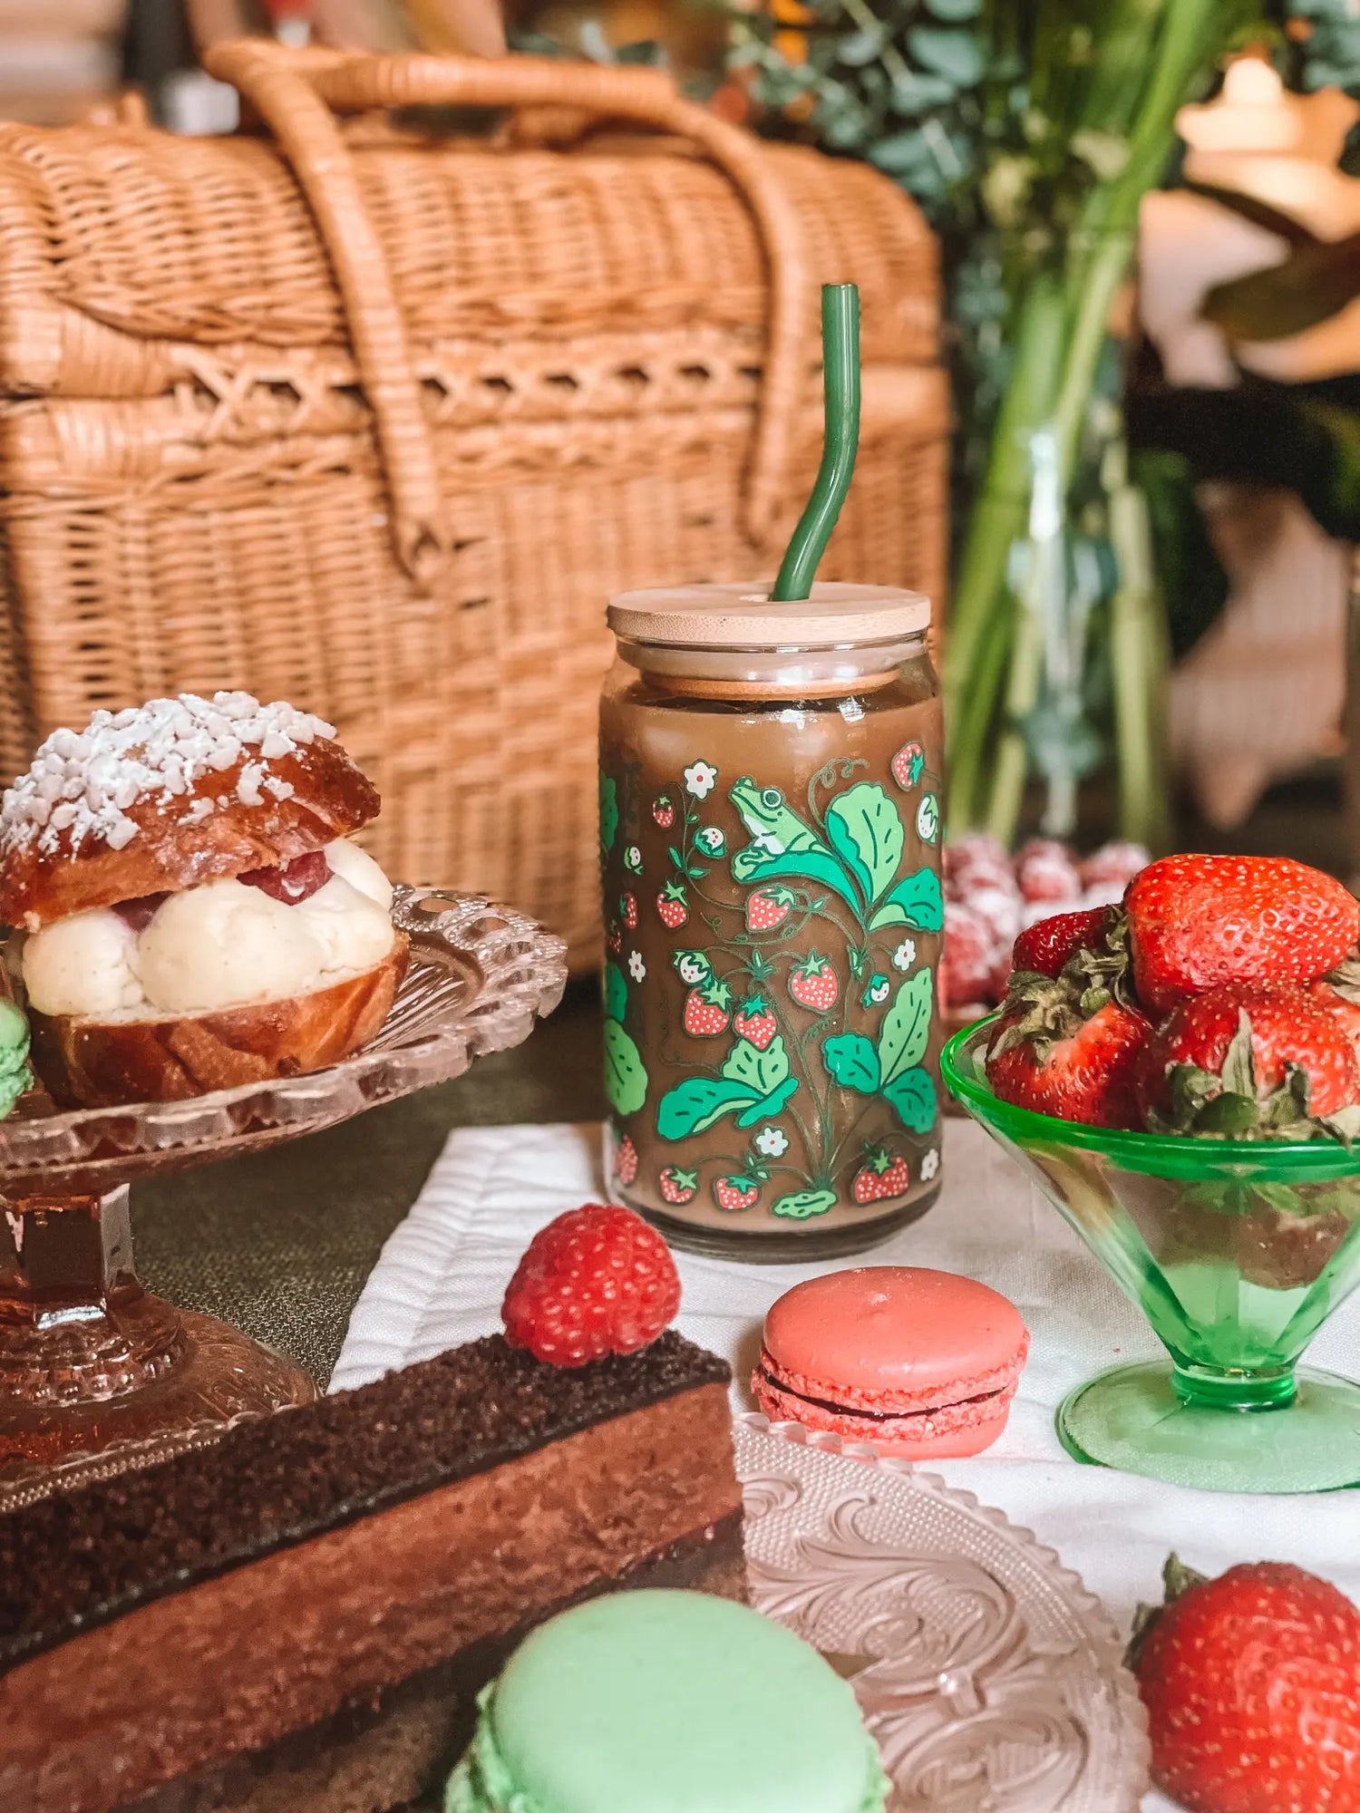
{"label": "pale green macaron in the foreground before the chocolate cake", "polygon": [[854,1693],[792,1632],[620,1592],[511,1655],[444,1813],[881,1813],[887,1788]]}

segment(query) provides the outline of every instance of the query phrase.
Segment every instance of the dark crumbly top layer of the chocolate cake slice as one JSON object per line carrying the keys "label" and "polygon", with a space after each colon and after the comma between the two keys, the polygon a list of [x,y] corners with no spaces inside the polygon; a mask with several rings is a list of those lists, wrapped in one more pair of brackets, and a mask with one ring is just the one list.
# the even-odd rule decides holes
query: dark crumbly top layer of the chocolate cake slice
{"label": "dark crumbly top layer of the chocolate cake slice", "polygon": [[729,1380],[675,1331],[573,1369],[491,1334],[285,1421],[243,1423],[163,1467],[0,1516],[0,1673],[141,1599]]}

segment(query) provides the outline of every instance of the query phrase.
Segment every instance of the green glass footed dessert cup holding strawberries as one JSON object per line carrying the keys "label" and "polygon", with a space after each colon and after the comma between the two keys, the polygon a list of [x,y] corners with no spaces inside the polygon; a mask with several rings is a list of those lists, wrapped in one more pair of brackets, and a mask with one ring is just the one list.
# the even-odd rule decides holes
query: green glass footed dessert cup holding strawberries
{"label": "green glass footed dessert cup holding strawberries", "polygon": [[1170,1362],[1070,1392],[1081,1461],[1209,1492],[1360,1483],[1360,1385],[1298,1360],[1360,1284],[1360,1149],[1117,1133],[997,1100],[994,1015],[945,1046],[950,1093],[1075,1227]]}

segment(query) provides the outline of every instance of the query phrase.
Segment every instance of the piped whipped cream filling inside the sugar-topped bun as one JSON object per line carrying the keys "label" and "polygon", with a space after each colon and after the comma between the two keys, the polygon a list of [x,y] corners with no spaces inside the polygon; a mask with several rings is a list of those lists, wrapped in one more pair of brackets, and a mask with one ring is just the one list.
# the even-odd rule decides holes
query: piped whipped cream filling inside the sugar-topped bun
{"label": "piped whipped cream filling inside the sugar-topped bun", "polygon": [[355,845],[326,845],[330,881],[297,905],[241,881],[170,894],[138,934],[112,908],[71,914],[24,941],[40,1013],[152,1019],[212,1013],[330,988],[392,950],[392,885]]}

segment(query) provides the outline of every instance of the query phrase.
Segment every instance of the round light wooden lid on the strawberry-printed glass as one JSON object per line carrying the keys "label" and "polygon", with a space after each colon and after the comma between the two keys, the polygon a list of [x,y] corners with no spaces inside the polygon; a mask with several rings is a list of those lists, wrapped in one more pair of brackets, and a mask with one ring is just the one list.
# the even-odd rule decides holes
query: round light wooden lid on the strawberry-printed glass
{"label": "round light wooden lid on the strawberry-printed glass", "polygon": [[834,649],[918,636],[930,600],[898,586],[818,584],[811,598],[771,604],[762,586],[656,586],[609,600],[609,627],[629,642],[691,649]]}

